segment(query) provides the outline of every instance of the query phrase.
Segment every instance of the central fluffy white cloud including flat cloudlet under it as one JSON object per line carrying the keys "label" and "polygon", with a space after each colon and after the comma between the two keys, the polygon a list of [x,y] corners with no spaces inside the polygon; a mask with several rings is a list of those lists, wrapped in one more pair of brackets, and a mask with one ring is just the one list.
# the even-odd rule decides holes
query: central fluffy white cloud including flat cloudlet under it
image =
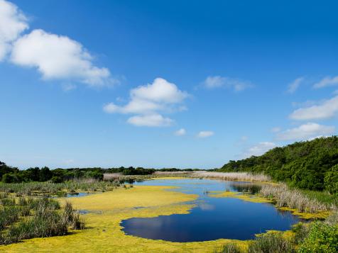
{"label": "central fluffy white cloud including flat cloudlet under it", "polygon": [[[178,86],[163,78],[156,78],[152,84],[138,86],[130,91],[130,100],[124,106],[107,103],[103,110],[106,113],[138,114],[127,121],[133,125],[166,126],[173,120],[164,118],[160,112],[181,111],[182,103],[188,94],[180,91]],[[146,123],[146,120],[149,123]],[[156,123],[155,123],[156,122]]]}

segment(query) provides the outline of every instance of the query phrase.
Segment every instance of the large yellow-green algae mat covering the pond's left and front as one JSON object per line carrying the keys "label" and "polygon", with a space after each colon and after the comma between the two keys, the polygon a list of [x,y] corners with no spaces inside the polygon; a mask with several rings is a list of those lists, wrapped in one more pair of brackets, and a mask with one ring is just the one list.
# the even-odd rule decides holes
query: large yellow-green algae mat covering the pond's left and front
{"label": "large yellow-green algae mat covering the pond's left and front", "polygon": [[[70,235],[24,240],[0,246],[0,252],[215,252],[227,242],[246,247],[239,240],[207,242],[167,242],[125,235],[120,222],[133,217],[189,213],[197,195],[166,191],[169,186],[134,186],[116,189],[80,198],[69,198],[78,210],[91,213],[82,215],[85,230],[71,231]],[[139,208],[142,207],[142,208]]]}

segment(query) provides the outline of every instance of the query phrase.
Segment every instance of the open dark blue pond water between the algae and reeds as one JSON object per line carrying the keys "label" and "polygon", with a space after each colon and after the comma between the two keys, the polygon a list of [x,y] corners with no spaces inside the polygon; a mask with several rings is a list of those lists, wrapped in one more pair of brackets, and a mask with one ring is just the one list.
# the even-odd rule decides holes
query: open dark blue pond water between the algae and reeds
{"label": "open dark blue pond water between the algae and reeds", "polygon": [[[236,185],[233,185],[236,184]],[[200,242],[220,238],[249,240],[266,230],[288,230],[299,218],[277,210],[269,203],[251,203],[236,198],[212,198],[208,191],[238,191],[247,182],[209,179],[150,180],[136,185],[178,186],[185,193],[198,194],[197,207],[189,214],[123,220],[126,235],[171,242]],[[172,190],[170,190],[172,191]],[[156,198],[156,196],[154,196]]]}

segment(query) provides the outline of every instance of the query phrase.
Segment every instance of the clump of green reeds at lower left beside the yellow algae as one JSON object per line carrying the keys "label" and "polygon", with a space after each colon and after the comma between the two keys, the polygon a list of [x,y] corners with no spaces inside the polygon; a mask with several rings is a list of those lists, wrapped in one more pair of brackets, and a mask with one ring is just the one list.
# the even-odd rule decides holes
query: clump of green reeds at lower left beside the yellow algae
{"label": "clump of green reeds at lower left beside the yellow algae", "polygon": [[66,202],[61,209],[52,198],[13,197],[1,193],[0,244],[34,237],[66,235],[68,228],[84,228],[80,215]]}

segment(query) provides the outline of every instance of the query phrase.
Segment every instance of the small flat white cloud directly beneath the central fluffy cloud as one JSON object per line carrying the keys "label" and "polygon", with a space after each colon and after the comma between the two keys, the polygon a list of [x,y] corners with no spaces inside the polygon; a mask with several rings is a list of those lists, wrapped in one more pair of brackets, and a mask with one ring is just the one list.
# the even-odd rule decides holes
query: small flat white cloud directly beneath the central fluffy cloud
{"label": "small flat white cloud directly beneath the central fluffy cloud", "polygon": [[133,116],[127,120],[131,125],[148,126],[148,127],[163,127],[173,123],[170,118],[164,118],[160,114]]}

